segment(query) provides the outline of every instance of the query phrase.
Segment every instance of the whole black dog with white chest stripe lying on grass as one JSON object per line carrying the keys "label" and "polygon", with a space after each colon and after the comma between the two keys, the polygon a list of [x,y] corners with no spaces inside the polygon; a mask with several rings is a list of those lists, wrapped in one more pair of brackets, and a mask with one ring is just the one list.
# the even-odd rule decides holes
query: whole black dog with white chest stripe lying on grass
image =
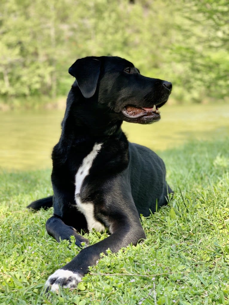
{"label": "whole black dog with white chest stripe lying on grass", "polygon": [[160,119],[158,108],[167,101],[172,84],[144,77],[119,57],[86,57],[69,69],[76,78],[67,98],[60,141],[53,149],[53,197],[28,207],[53,205],[46,222],[57,242],[77,233],[108,228],[110,236],[88,246],[49,276],[47,289],[76,287],[88,267],[108,248],[117,252],[145,238],[140,213],[166,204],[172,190],[165,181],[165,165],[150,149],[129,143],[123,120],[149,124]]}

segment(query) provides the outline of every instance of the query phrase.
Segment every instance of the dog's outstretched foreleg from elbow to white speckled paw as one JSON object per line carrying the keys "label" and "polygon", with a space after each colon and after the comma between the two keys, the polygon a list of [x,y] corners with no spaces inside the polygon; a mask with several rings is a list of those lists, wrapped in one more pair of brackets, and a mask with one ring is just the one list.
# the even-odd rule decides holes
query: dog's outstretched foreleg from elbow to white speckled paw
{"label": "dog's outstretched foreleg from elbow to white speckled paw", "polygon": [[67,288],[76,287],[84,274],[88,272],[88,267],[96,264],[96,260],[100,258],[100,253],[106,254],[108,248],[112,252],[117,252],[130,243],[136,245],[138,241],[145,239],[138,214],[134,214],[135,217],[133,217],[133,214],[130,217],[128,214],[118,213],[119,221],[116,218],[111,225],[113,233],[106,239],[82,249],[70,263],[50,275],[45,284],[47,286],[46,291],[57,291],[59,285]]}

